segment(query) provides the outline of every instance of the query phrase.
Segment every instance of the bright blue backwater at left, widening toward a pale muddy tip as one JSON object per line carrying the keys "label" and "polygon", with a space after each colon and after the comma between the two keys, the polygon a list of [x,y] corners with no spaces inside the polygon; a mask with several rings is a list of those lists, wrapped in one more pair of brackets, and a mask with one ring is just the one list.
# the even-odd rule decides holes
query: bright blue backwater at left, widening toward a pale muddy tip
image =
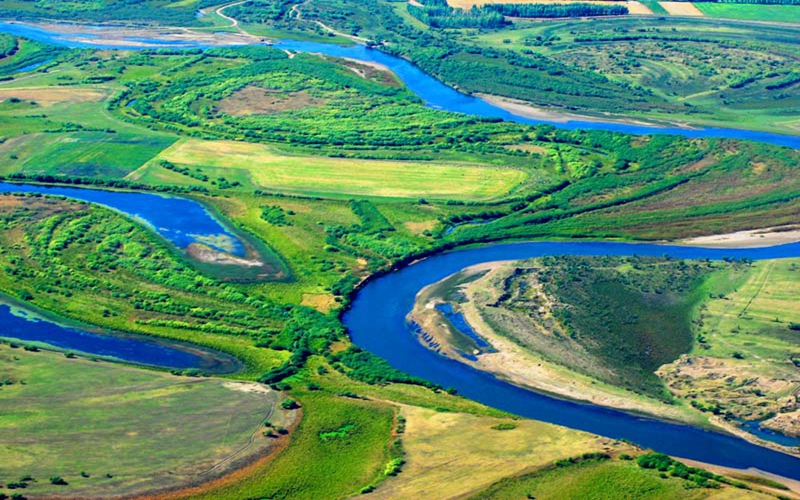
{"label": "bright blue backwater at left, widening toward a pale muddy tip", "polygon": [[200,242],[238,256],[246,253],[239,238],[194,200],[150,193],[0,182],[0,193],[3,192],[60,195],[97,203],[147,224],[178,248]]}

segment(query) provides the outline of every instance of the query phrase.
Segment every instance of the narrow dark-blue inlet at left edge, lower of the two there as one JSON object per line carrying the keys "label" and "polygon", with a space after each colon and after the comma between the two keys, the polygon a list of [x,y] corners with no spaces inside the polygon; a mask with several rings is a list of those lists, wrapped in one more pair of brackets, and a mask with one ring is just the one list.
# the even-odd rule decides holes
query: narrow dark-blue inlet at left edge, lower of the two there
{"label": "narrow dark-blue inlet at left edge, lower of the two there", "polygon": [[85,352],[130,363],[163,368],[201,368],[208,364],[203,356],[168,346],[141,336],[116,336],[91,333],[62,326],[46,319],[12,310],[0,303],[0,337],[26,342],[42,342],[67,351]]}

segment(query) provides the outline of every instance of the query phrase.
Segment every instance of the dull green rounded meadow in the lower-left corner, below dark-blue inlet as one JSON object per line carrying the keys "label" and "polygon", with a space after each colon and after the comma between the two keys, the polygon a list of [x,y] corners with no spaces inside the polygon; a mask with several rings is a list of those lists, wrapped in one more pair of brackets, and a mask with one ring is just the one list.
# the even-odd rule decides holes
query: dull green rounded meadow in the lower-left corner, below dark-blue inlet
{"label": "dull green rounded meadow in the lower-left corner, below dark-blue inlet", "polygon": [[[278,393],[256,384],[7,344],[0,360],[8,381],[0,390],[0,481],[32,476],[28,497],[116,497],[200,483],[274,446],[261,435],[265,418],[286,427],[294,420]],[[51,484],[55,476],[69,484]]]}

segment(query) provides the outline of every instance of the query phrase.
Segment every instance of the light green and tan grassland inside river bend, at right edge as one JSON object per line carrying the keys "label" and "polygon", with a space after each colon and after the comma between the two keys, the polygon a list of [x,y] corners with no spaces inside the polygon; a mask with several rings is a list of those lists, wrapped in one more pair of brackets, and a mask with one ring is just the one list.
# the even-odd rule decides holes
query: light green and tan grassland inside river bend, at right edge
{"label": "light green and tan grassland inside river bend, at right edge", "polygon": [[690,355],[660,370],[670,389],[702,411],[800,435],[798,342],[790,328],[800,323],[793,307],[799,269],[788,259],[716,275]]}

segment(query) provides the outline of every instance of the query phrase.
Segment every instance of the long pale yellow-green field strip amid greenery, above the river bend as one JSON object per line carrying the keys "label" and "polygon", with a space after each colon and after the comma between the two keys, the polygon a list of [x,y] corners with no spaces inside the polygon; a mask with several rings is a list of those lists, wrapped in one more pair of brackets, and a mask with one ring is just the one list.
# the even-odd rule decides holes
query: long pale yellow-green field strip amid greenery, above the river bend
{"label": "long pale yellow-green field strip amid greenery, above the river bend", "polygon": [[[480,200],[502,196],[527,177],[496,167],[286,156],[260,144],[195,139],[174,144],[156,159],[199,167],[212,179],[222,175],[245,185],[307,195]],[[169,174],[151,162],[129,178],[157,182],[159,175]]]}

